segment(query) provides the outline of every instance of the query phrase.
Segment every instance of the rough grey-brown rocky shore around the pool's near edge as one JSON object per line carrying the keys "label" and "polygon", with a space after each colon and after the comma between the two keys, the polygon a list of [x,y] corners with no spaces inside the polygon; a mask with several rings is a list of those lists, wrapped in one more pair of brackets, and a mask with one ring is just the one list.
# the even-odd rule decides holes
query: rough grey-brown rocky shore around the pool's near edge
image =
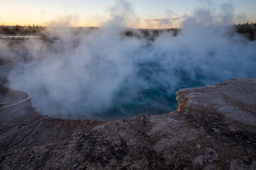
{"label": "rough grey-brown rocky shore around the pool's near edge", "polygon": [[48,118],[0,92],[0,169],[256,169],[256,79],[181,89],[176,111],[107,123]]}

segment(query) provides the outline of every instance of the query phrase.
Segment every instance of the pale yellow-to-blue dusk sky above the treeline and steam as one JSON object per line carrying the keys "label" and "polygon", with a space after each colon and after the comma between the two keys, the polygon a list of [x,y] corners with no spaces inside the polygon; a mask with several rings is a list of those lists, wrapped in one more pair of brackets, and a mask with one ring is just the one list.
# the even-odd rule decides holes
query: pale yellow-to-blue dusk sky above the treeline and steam
{"label": "pale yellow-to-blue dusk sky above the treeline and steam", "polygon": [[[256,0],[127,0],[129,27],[174,28],[184,15],[196,8],[231,3],[234,23],[256,22]],[[111,18],[111,9],[118,0],[0,0],[0,24],[50,26],[67,23],[70,26],[102,26]],[[123,14],[122,14],[123,15]],[[171,22],[165,22],[171,21]]]}

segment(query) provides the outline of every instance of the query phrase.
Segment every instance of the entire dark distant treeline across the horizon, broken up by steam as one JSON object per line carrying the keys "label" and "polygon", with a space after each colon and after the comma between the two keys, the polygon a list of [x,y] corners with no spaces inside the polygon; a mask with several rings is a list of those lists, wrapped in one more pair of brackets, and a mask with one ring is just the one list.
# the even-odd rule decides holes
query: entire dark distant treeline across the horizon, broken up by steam
{"label": "entire dark distant treeline across the horizon, broken up by steam", "polygon": [[[238,23],[234,24],[235,32],[245,35],[250,40],[256,40],[256,23]],[[88,28],[85,28],[88,29]],[[0,34],[12,35],[40,35],[47,34],[46,27],[33,26],[0,26]],[[80,32],[84,28],[75,28],[75,32]],[[97,28],[89,28],[89,30],[97,30]],[[174,36],[181,33],[180,28],[170,29],[127,29],[122,34],[127,37],[146,38],[147,40],[156,40],[161,33],[172,33]]]}

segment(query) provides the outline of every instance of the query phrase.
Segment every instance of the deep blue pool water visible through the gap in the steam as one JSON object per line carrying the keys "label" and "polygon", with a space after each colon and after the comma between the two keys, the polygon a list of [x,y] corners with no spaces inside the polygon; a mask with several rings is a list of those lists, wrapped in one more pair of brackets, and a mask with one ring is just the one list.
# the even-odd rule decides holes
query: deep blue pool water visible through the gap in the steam
{"label": "deep blue pool water visible through the gap in the steam", "polygon": [[[204,77],[200,74],[196,76],[196,79],[191,79],[182,69],[165,70],[156,62],[140,63],[137,67],[138,72],[135,78],[127,77],[127,80],[124,81],[122,87],[115,94],[112,107],[101,113],[93,114],[96,119],[97,116],[100,120],[115,120],[131,118],[134,115],[155,115],[176,111],[178,102],[176,101],[175,92],[178,89],[205,85],[201,82]],[[174,72],[181,77],[175,87],[171,85],[170,79],[162,78]],[[139,84],[129,86],[130,83],[126,84],[126,82],[134,79],[143,80],[146,86],[140,86]],[[134,89],[139,89],[139,91],[132,95],[131,91],[134,91]]]}

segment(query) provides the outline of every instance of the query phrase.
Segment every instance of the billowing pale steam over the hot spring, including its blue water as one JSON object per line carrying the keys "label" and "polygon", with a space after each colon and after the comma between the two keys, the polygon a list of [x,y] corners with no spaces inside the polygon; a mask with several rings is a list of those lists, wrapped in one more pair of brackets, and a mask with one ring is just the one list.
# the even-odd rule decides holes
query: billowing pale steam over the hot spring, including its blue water
{"label": "billowing pale steam over the hot spring, including its blue water", "polygon": [[180,34],[163,33],[151,45],[123,36],[128,20],[115,11],[100,30],[58,30],[53,42],[25,43],[28,60],[9,74],[10,87],[25,91],[38,112],[58,118],[168,113],[180,88],[255,78],[256,43],[232,32],[230,6],[221,13],[216,19],[197,10],[184,17]]}

